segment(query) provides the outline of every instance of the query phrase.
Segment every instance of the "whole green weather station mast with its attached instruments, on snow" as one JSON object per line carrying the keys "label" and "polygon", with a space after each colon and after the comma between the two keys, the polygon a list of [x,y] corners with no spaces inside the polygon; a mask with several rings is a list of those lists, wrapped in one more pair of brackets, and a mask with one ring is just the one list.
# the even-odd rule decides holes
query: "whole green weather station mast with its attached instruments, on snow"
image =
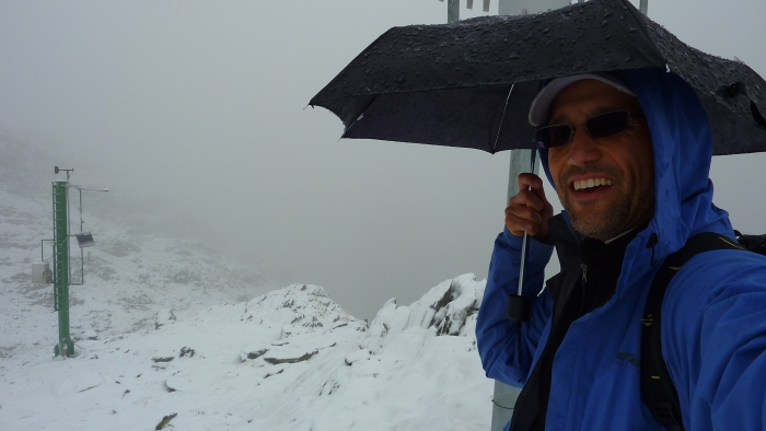
{"label": "whole green weather station mast with its attached instruments, on snow", "polygon": [[[53,183],[54,196],[54,238],[43,240],[40,247],[39,264],[32,265],[32,281],[36,283],[54,284],[54,310],[58,312],[58,341],[54,347],[54,357],[61,356],[69,358],[74,356],[74,342],[69,330],[69,286],[84,283],[84,259],[83,248],[95,245],[93,235],[90,232],[82,232],[82,191],[109,191],[104,189],[86,189],[69,184],[69,177],[73,168],[60,170],[54,167],[54,173],[67,173],[67,180],[56,180]],[[80,193],[80,233],[70,235],[69,233],[69,189],[74,188]],[[80,282],[72,282],[71,268],[69,263],[69,240],[74,236],[80,246]],[[49,269],[45,258],[46,242],[53,242],[54,270]]]}

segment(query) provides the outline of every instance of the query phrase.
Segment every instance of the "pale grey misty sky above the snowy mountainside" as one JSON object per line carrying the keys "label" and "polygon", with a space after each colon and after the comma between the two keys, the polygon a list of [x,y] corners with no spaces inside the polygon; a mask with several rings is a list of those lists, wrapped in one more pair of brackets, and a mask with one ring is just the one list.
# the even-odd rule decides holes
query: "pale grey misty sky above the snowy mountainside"
{"label": "pale grey misty sky above the snowy mountainside", "polygon": [[[649,16],[766,75],[763,0],[650,0]],[[305,107],[387,28],[445,20],[438,0],[0,0],[0,129],[372,317],[392,296],[486,277],[509,155],[338,140],[340,120]],[[743,232],[766,233],[764,164],[713,161],[715,201]]]}

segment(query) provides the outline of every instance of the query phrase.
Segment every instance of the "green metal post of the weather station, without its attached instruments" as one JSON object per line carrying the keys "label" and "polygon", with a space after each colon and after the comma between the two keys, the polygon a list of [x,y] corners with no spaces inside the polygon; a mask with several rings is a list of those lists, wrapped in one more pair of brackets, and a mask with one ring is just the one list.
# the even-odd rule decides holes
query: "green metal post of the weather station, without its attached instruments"
{"label": "green metal post of the weather station, without its attached instruments", "polygon": [[58,343],[54,356],[74,356],[69,334],[69,182],[54,182],[54,308],[58,311]]}

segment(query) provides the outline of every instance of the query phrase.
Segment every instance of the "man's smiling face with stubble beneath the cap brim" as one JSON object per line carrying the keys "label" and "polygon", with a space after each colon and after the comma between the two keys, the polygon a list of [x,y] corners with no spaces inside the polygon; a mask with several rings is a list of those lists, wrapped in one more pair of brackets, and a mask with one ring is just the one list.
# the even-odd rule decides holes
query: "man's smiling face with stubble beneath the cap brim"
{"label": "man's smiling face with stubble beneath the cap brim", "polygon": [[[643,113],[638,98],[601,81],[582,80],[558,94],[548,124],[579,125],[612,110]],[[548,167],[572,225],[590,237],[608,241],[654,214],[654,160],[643,118],[606,138],[591,138],[584,126],[577,126],[571,142],[548,150]]]}

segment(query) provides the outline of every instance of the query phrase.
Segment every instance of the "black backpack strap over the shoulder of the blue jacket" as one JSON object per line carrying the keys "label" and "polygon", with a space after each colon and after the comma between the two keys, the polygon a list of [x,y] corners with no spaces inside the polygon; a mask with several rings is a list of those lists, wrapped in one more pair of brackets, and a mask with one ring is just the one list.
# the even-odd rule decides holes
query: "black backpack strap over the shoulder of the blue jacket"
{"label": "black backpack strap over the shoulder of the blue jacket", "polygon": [[715,249],[744,249],[734,240],[712,232],[690,237],[686,245],[668,256],[654,276],[643,312],[641,333],[641,392],[654,419],[670,431],[683,431],[681,403],[662,358],[662,300],[673,276],[699,253]]}

